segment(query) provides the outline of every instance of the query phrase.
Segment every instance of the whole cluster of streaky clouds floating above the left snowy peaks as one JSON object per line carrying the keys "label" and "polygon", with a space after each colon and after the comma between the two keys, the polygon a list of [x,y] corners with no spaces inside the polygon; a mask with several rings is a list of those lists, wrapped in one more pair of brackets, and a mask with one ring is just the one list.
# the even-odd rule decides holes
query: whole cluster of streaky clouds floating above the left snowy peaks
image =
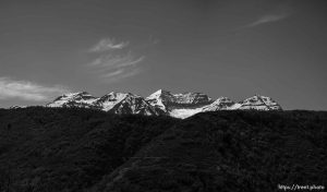
{"label": "whole cluster of streaky clouds floating above the left snowy peaks", "polygon": [[128,41],[117,44],[112,38],[105,38],[92,49],[97,55],[87,65],[105,82],[136,75],[142,71],[140,63],[145,56],[137,56],[134,49]]}

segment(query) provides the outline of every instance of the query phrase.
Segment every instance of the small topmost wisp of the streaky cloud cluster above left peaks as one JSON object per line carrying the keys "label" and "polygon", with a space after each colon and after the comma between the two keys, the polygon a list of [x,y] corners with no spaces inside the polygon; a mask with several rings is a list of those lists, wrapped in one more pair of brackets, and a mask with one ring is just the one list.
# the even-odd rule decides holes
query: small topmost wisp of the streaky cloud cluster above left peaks
{"label": "small topmost wisp of the streaky cloud cluster above left peaks", "polygon": [[104,38],[89,49],[89,52],[119,50],[129,46],[129,41],[118,43],[114,38]]}

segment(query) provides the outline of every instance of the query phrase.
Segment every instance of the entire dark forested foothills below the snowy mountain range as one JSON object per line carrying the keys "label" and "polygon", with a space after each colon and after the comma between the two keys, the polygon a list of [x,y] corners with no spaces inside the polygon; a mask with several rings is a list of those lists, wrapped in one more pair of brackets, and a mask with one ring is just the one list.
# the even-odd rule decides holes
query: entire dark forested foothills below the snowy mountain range
{"label": "entire dark forested foothills below the snowy mountain range", "polygon": [[185,120],[87,109],[0,110],[0,191],[278,191],[327,184],[327,112]]}

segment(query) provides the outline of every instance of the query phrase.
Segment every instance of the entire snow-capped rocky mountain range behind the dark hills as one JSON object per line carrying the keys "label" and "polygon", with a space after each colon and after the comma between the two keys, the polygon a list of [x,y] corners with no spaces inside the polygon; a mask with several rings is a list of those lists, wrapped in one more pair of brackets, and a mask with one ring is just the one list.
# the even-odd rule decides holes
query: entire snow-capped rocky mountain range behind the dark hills
{"label": "entire snow-capped rocky mountain range behind the dark hills", "polygon": [[282,109],[272,98],[261,95],[235,103],[228,97],[213,100],[203,93],[172,94],[164,89],[159,89],[146,98],[119,92],[111,92],[102,97],[94,97],[87,92],[72,93],[56,98],[46,107],[90,108],[120,115],[171,116],[181,119],[198,112],[217,110]]}

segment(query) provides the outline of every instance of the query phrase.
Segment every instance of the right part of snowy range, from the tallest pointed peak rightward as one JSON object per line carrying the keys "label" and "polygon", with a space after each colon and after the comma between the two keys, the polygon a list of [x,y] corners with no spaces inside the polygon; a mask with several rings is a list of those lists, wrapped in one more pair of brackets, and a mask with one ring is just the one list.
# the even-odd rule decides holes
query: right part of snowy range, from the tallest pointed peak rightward
{"label": "right part of snowy range, from the tallest pointed peak rightward", "polygon": [[213,100],[202,93],[171,94],[159,89],[146,97],[146,100],[161,113],[175,118],[187,118],[198,112],[217,110],[281,110],[270,97],[255,95],[235,103],[228,97]]}

